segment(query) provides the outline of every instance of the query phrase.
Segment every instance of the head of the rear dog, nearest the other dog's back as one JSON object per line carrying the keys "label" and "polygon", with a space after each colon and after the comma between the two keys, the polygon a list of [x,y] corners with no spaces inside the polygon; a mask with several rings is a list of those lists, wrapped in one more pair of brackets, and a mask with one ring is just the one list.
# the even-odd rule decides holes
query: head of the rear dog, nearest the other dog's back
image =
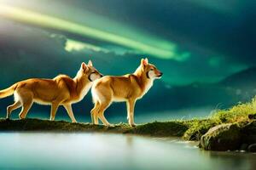
{"label": "head of the rear dog, nearest the other dog's back", "polygon": [[88,78],[90,82],[93,82],[96,79],[103,77],[103,75],[99,71],[97,71],[96,68],[92,65],[91,60],[89,60],[87,65],[84,62],[81,64],[79,74],[82,77]]}

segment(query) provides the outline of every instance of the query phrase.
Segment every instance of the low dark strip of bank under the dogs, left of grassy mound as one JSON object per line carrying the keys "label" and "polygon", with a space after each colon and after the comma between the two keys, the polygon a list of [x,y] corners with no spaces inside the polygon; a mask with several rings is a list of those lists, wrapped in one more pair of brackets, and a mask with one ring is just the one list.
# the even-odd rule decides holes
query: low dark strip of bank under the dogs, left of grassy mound
{"label": "low dark strip of bank under the dogs, left of grassy mound", "polygon": [[137,127],[126,123],[115,124],[114,127],[93,125],[91,123],[72,123],[65,121],[49,121],[41,119],[0,119],[0,131],[38,131],[38,132],[101,132],[101,133],[134,133],[158,137],[182,137],[188,130],[184,122],[151,122]]}

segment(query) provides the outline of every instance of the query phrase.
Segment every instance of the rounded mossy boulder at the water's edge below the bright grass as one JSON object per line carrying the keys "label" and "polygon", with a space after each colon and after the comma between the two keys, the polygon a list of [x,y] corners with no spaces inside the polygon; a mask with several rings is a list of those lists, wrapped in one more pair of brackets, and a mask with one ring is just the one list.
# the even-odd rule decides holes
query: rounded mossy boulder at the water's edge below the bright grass
{"label": "rounded mossy boulder at the water's edge below the bright grass", "polygon": [[201,137],[199,146],[204,150],[239,150],[241,146],[241,128],[236,123],[212,127]]}

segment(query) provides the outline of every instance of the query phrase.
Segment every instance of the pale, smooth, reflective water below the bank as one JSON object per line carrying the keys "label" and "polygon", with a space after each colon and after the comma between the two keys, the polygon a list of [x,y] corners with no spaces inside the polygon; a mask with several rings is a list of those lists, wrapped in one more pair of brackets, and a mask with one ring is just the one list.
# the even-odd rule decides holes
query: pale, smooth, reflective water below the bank
{"label": "pale, smooth, reflective water below the bank", "polygon": [[0,169],[256,169],[256,155],[180,139],[107,133],[0,133]]}

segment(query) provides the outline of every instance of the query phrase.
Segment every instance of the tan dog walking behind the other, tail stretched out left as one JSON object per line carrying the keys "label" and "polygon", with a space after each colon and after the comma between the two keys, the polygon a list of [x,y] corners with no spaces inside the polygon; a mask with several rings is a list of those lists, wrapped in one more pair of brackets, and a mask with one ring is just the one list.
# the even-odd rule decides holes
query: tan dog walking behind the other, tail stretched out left
{"label": "tan dog walking behind the other, tail stretched out left", "polygon": [[73,116],[72,104],[79,102],[88,93],[93,81],[102,77],[96,71],[91,61],[88,65],[82,63],[77,76],[73,79],[60,75],[54,79],[28,79],[17,82],[10,88],[0,91],[0,99],[15,94],[15,104],[7,107],[7,116],[22,106],[20,119],[26,118],[33,102],[42,105],[51,105],[50,120],[55,120],[55,113],[59,105],[63,105],[72,122],[77,122]]}

